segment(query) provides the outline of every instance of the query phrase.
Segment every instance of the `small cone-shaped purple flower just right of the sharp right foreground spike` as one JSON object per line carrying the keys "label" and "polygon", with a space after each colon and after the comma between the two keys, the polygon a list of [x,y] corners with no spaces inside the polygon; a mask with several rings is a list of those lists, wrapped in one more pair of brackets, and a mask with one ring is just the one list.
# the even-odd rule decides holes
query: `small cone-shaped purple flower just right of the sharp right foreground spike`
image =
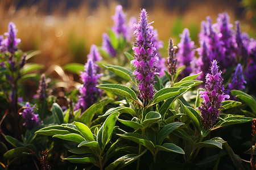
{"label": "small cone-shaped purple flower just right of the sharp right foreground spike", "polygon": [[241,67],[240,63],[237,65],[236,71],[234,74],[232,74],[232,77],[233,78],[232,78],[231,82],[229,83],[229,94],[230,94],[231,90],[245,89],[245,86],[243,86],[243,83],[246,84],[246,81],[245,81],[245,79],[243,79],[242,67]]}

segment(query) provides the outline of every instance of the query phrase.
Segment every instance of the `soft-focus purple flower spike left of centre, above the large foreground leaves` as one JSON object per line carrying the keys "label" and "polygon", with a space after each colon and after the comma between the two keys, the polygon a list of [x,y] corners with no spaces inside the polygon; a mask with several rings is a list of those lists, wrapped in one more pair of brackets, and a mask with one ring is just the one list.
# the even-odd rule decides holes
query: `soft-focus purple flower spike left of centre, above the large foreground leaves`
{"label": "soft-focus purple flower spike left of centre, above the large foreground leaves", "polygon": [[96,86],[98,78],[102,74],[96,74],[96,66],[92,59],[88,59],[85,64],[84,73],[81,72],[81,79],[83,86],[80,87],[80,96],[74,110],[81,109],[84,112],[92,104],[96,103],[98,97],[100,97],[101,91]]}

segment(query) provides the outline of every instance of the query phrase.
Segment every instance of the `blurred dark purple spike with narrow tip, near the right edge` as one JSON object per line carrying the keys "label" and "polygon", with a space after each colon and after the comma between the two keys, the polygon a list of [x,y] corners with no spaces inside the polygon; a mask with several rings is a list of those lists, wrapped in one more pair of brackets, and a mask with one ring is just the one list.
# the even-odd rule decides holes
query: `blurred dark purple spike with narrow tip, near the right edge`
{"label": "blurred dark purple spike with narrow tip, near the right edge", "polygon": [[237,53],[238,53],[238,56],[241,57],[242,61],[246,62],[247,58],[249,57],[249,51],[247,49],[246,37],[245,37],[245,35],[241,34],[239,21],[236,22],[236,25],[237,25],[237,27],[236,27]]}

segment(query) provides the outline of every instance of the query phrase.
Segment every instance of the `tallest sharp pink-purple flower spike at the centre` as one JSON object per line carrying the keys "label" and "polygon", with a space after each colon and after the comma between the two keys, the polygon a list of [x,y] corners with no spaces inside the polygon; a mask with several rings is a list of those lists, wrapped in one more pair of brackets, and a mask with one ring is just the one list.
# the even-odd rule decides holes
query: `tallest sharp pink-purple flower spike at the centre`
{"label": "tallest sharp pink-purple flower spike at the centre", "polygon": [[135,67],[133,74],[139,81],[139,97],[151,100],[154,96],[154,75],[156,73],[156,63],[158,56],[156,48],[152,44],[154,34],[148,30],[147,12],[142,9],[139,23],[134,25],[137,28],[134,31],[136,42],[134,43],[134,59],[131,61]]}

